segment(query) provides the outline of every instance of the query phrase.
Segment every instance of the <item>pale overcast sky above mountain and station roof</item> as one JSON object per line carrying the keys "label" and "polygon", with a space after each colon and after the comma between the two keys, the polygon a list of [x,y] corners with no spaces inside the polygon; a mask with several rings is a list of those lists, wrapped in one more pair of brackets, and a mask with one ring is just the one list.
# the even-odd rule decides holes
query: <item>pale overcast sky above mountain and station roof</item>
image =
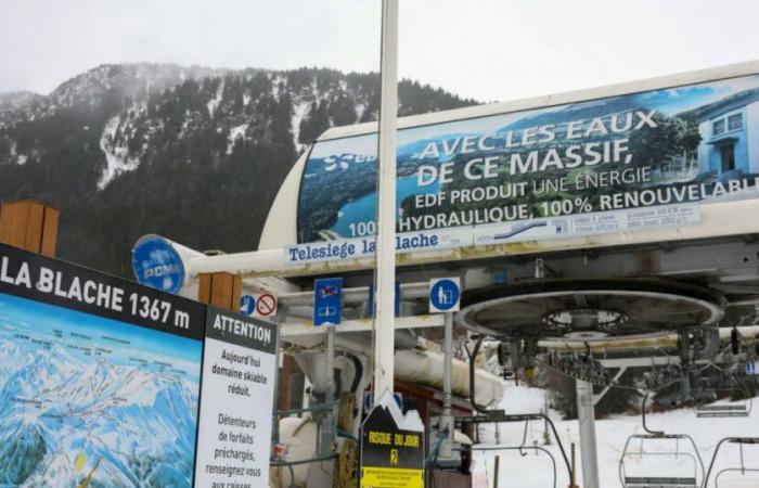
{"label": "pale overcast sky above mountain and station roof", "polygon": [[[0,91],[102,63],[377,70],[381,0],[0,0]],[[756,0],[400,0],[399,69],[505,101],[759,59]]]}

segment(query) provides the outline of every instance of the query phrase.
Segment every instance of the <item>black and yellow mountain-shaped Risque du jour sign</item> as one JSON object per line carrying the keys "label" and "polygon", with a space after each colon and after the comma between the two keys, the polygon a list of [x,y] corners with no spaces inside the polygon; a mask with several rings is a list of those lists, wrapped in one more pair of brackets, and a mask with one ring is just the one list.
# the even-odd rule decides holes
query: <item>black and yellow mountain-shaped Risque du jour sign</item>
{"label": "black and yellow mountain-shaped Risque du jour sign", "polygon": [[361,488],[424,487],[424,425],[385,393],[361,425]]}

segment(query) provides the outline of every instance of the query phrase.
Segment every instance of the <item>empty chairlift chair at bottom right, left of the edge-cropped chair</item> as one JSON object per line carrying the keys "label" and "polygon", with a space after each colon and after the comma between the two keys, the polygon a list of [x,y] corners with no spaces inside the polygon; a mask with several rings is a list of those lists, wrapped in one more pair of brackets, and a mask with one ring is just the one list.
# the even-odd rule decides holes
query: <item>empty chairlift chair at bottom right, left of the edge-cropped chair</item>
{"label": "empty chairlift chair at bottom right, left of the edge-cropped chair", "polygon": [[[705,479],[704,461],[698,453],[698,448],[693,437],[687,434],[665,434],[664,432],[651,431],[645,423],[645,403],[648,399],[648,394],[646,393],[643,397],[643,429],[646,434],[633,434],[628,437],[627,442],[625,442],[625,449],[622,449],[622,455],[619,459],[619,481],[622,488],[699,488],[699,471],[700,479]],[[640,440],[640,449],[638,451],[631,450],[631,445],[634,440]],[[680,441],[685,441],[691,446],[693,452],[681,451]],[[643,442],[674,442],[673,451],[645,451],[643,449]],[[689,470],[686,474],[679,474],[676,476],[653,476],[653,475],[631,475],[625,468],[626,461],[630,458],[638,457],[639,459],[656,459],[657,457],[664,458],[674,458],[674,459],[686,459],[691,462],[693,468]]]}

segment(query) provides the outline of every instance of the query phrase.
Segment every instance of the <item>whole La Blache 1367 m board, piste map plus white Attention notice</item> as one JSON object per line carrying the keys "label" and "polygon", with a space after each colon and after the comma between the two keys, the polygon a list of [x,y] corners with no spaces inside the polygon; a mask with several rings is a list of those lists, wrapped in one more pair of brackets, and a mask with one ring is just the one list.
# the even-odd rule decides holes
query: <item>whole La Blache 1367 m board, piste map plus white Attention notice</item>
{"label": "whole La Blache 1367 m board, piste map plus white Attention notice", "polygon": [[0,485],[266,487],[275,351],[270,323],[0,245]]}

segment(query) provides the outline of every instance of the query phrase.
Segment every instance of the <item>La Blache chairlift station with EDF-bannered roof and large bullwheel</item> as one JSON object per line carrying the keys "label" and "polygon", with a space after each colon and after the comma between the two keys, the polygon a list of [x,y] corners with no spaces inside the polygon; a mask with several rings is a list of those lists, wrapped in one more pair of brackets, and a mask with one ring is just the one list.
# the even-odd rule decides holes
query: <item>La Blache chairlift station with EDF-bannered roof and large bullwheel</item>
{"label": "La Blache chairlift station with EDF-bannered roof and large bullwheel", "polygon": [[[366,413],[378,326],[377,144],[377,124],[319,137],[282,184],[258,251],[206,255],[150,237],[176,253],[182,295],[196,297],[197,277],[217,272],[242,277],[243,295],[276,295],[282,352],[309,385],[306,402],[280,412],[278,441],[297,446],[275,464],[288,466],[281,486],[332,486],[358,455],[350,442]],[[609,388],[634,386],[700,418],[748,415],[759,62],[400,118],[396,153],[394,389],[424,424],[427,484],[471,486],[476,425],[545,418],[510,413],[503,380],[477,362],[485,350],[497,350],[509,381],[541,369],[576,380],[582,466],[573,470],[561,446],[556,468],[581,472],[583,487],[600,486],[594,406]],[[342,279],[340,317],[317,326],[327,309],[314,310],[314,282],[327,278]],[[460,310],[430,312],[430,281],[441,279],[459,284]],[[437,290],[438,305],[446,293]],[[454,359],[453,342],[468,357]],[[627,370],[635,383],[620,383]],[[292,400],[295,386],[280,386]],[[744,403],[712,404],[736,391]],[[707,486],[716,473],[697,433],[643,426],[623,449],[622,487]],[[748,452],[757,436],[726,442]],[[693,473],[626,471],[635,445],[678,439],[692,445]],[[287,465],[299,460],[314,461]]]}

